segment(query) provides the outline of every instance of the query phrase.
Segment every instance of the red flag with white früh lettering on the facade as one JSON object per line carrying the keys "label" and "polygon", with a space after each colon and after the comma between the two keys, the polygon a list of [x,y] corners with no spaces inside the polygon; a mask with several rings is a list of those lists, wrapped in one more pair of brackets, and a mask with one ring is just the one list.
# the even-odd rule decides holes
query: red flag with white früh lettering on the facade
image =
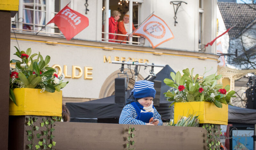
{"label": "red flag with white fr\u00fch lettering on the facade", "polygon": [[89,26],[89,19],[81,13],[64,7],[58,12],[49,23],[55,23],[67,40],[72,39],[76,34]]}

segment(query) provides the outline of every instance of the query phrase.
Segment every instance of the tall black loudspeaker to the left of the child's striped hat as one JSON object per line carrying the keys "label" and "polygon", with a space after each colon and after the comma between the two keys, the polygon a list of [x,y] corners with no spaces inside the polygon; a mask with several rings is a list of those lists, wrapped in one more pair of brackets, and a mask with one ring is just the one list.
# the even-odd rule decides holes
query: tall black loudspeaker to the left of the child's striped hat
{"label": "tall black loudspeaker to the left of the child's striped hat", "polygon": [[126,102],[126,78],[115,79],[115,103],[125,104]]}

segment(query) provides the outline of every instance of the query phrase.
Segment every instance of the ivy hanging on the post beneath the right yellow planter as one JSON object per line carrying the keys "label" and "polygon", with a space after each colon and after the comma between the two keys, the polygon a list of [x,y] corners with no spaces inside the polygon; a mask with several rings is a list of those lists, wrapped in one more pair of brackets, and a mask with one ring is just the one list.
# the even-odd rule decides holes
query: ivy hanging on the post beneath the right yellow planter
{"label": "ivy hanging on the post beneath the right yellow planter", "polygon": [[207,148],[208,150],[220,150],[220,134],[216,124],[204,124],[203,128],[207,130]]}

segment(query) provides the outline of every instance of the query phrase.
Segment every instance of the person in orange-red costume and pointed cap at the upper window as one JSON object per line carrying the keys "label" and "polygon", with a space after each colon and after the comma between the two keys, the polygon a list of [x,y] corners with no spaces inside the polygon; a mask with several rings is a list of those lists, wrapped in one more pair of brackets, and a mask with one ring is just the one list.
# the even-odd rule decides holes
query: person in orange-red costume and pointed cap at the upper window
{"label": "person in orange-red costume and pointed cap at the upper window", "polygon": [[[135,30],[135,27],[132,23],[132,31]],[[118,34],[128,34],[129,32],[129,11],[126,12],[126,14],[123,17],[122,21],[118,22]],[[132,36],[132,35],[131,35]],[[126,36],[121,36],[121,35],[117,35],[117,40],[124,40],[126,38]],[[128,41],[128,37],[124,40],[124,41]],[[121,41],[116,41],[118,43],[121,43]],[[126,43],[126,42],[122,42],[122,43]]]}

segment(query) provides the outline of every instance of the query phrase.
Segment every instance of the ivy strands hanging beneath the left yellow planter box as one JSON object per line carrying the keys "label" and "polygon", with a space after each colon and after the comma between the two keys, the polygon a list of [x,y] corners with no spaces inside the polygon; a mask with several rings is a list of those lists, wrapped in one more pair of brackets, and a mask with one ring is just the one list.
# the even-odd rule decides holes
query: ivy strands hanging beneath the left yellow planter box
{"label": "ivy strands hanging beneath the left yellow planter box", "polygon": [[[28,130],[28,141],[31,141],[31,144],[28,144],[28,148],[32,149],[52,149],[52,146],[56,145],[56,142],[53,141],[54,136],[52,135],[52,132],[55,130],[54,128],[51,128],[51,124],[54,124],[54,122],[57,121],[57,117],[46,117],[42,119],[41,124],[41,133],[37,133],[36,137],[39,139],[38,144],[35,145],[34,139],[35,139],[35,133],[34,131],[38,131],[39,127],[35,125],[38,118],[36,117],[28,117],[28,126],[31,126],[31,130]],[[50,131],[50,134],[49,134]]]}

